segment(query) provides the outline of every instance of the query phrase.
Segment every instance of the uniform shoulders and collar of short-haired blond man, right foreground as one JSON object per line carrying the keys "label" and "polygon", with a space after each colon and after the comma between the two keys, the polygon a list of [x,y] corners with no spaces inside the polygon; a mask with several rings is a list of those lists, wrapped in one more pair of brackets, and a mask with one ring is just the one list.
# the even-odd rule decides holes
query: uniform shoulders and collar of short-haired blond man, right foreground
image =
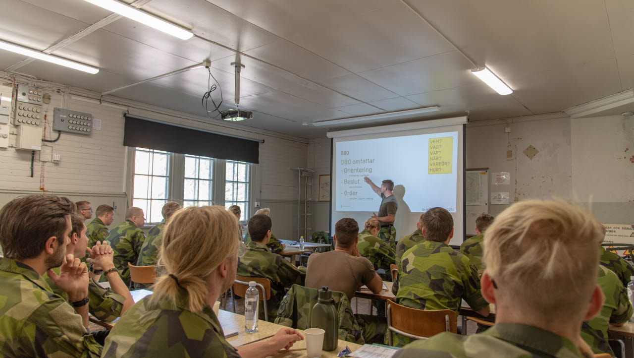
{"label": "uniform shoulders and collar of short-haired blond man, right foreground", "polygon": [[572,341],[525,324],[498,323],[477,335],[441,333],[406,345],[394,358],[584,358]]}

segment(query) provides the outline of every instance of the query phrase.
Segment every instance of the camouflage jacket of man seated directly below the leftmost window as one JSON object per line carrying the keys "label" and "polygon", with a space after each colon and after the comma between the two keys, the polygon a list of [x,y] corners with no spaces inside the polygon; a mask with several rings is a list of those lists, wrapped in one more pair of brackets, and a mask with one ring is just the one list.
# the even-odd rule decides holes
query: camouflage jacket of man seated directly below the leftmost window
{"label": "camouflage jacket of man seated directly below the leftmost window", "polygon": [[141,246],[145,241],[145,234],[133,222],[126,220],[110,230],[106,240],[110,242],[110,246],[115,251],[113,262],[119,270],[121,279],[126,282],[127,286],[130,286],[130,269],[127,267],[127,263],[135,265],[138,261]]}

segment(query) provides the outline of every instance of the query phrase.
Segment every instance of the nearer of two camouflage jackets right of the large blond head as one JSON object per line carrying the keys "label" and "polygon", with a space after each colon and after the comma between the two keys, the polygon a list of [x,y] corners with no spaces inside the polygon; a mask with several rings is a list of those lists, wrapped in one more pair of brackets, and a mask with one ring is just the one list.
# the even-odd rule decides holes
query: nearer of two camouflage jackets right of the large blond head
{"label": "nearer of two camouflage jackets right of the large blond head", "polygon": [[632,306],[627,289],[619,277],[606,267],[599,266],[598,285],[605,296],[600,314],[581,326],[581,338],[588,343],[595,354],[608,353],[614,357],[607,331],[610,323],[624,323],[632,315]]}

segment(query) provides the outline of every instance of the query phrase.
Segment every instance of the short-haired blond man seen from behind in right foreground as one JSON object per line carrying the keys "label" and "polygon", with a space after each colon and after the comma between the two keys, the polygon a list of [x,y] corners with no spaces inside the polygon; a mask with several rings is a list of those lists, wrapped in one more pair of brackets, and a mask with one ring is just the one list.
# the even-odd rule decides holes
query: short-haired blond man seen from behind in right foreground
{"label": "short-haired blond man seen from behind in right foreground", "polygon": [[601,310],[592,215],[560,201],[524,201],[503,211],[484,237],[482,295],[496,323],[471,336],[441,333],[395,357],[592,357],[581,323]]}

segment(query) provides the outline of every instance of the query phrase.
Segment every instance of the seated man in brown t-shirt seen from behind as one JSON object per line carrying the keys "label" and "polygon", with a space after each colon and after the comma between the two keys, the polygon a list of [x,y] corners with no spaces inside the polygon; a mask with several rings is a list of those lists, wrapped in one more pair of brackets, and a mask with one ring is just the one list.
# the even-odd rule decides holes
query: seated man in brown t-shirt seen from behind
{"label": "seated man in brown t-shirt seen from behind", "polygon": [[[352,300],[356,290],[365,285],[373,293],[379,293],[383,281],[374,266],[359,255],[357,242],[359,225],[354,219],[343,218],[335,224],[335,251],[314,253],[308,258],[306,287],[320,289],[328,286],[332,291],[340,291]],[[385,317],[375,315],[354,315],[366,343],[382,343],[387,329]]]}

